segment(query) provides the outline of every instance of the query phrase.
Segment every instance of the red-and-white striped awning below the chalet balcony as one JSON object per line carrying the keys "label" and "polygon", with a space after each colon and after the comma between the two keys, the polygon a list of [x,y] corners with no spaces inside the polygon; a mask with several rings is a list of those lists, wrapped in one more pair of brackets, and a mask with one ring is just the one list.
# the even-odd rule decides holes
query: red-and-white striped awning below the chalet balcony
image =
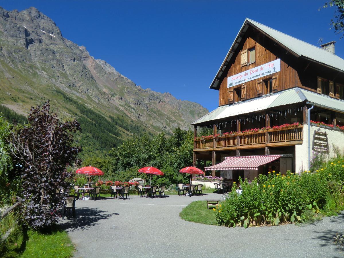
{"label": "red-and-white striped awning below the chalet balcony", "polygon": [[259,155],[259,156],[234,156],[226,157],[224,161],[214,166],[208,166],[204,170],[234,170],[234,169],[254,169],[258,166],[277,160],[282,155]]}

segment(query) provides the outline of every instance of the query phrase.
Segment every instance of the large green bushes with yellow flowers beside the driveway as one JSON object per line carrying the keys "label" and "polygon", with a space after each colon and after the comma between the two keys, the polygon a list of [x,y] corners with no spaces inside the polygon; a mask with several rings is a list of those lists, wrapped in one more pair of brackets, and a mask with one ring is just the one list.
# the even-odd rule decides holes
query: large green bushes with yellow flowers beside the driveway
{"label": "large green bushes with yellow flowers beside the driveway", "polygon": [[270,173],[252,183],[239,179],[242,193],[234,191],[234,183],[228,198],[213,209],[217,223],[246,228],[302,221],[308,210],[333,214],[344,208],[343,175],[344,161],[332,159],[312,173]]}

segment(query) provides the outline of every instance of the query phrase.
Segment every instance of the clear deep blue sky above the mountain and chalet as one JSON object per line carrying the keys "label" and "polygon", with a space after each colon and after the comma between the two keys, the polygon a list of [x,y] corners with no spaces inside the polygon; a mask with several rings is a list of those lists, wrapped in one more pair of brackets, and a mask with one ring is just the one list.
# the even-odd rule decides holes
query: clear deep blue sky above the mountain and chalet
{"label": "clear deep blue sky above the mountain and chalet", "polygon": [[313,45],[343,40],[330,28],[334,8],[323,1],[2,1],[19,11],[36,7],[62,35],[86,46],[143,88],[218,106],[209,89],[246,17]]}

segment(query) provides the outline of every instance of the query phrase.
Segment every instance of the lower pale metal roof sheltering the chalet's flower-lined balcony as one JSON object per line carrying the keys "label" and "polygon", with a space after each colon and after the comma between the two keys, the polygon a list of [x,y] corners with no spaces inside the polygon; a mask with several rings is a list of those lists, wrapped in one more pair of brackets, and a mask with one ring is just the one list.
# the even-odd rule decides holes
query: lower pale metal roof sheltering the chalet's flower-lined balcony
{"label": "lower pale metal roof sheltering the chalet's flower-lined balcony", "polygon": [[316,107],[344,113],[344,100],[331,98],[326,95],[295,87],[277,93],[240,101],[232,105],[220,106],[193,122],[192,125],[205,125],[209,124],[211,121],[215,122],[216,120],[237,115],[249,114],[296,103],[311,103]]}

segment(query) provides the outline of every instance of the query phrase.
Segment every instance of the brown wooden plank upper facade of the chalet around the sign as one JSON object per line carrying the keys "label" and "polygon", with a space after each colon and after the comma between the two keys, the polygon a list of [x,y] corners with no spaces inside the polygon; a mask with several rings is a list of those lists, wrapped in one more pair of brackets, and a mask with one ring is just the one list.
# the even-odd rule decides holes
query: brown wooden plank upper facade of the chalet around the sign
{"label": "brown wooden plank upper facade of the chalet around the sign", "polygon": [[[272,93],[280,90],[300,87],[312,92],[319,92],[319,77],[329,82],[329,96],[339,98],[339,93],[344,87],[344,74],[324,65],[297,57],[283,47],[277,45],[268,36],[257,29],[250,27],[245,33],[245,40],[233,57],[232,64],[227,68],[219,87],[219,106],[235,103],[240,100],[251,99],[268,92],[265,89],[264,80],[272,79]],[[241,51],[255,47],[255,62],[241,65]],[[280,72],[267,75],[247,83],[227,88],[227,77],[245,72],[251,68],[266,64],[280,58]],[[321,86],[320,86],[321,88]],[[241,90],[241,98],[238,98],[238,90]]]}

